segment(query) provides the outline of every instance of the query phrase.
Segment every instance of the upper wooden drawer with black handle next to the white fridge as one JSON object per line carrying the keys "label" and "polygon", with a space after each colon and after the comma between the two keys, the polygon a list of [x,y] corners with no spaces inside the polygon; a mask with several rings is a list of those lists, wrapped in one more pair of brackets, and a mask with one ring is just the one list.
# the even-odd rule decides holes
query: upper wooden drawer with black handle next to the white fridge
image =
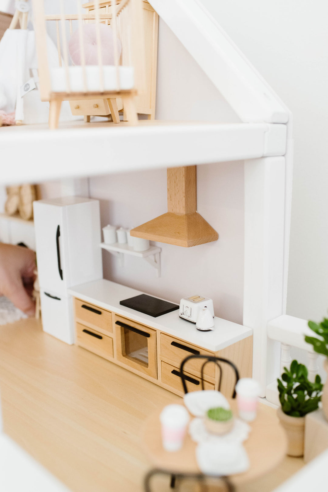
{"label": "upper wooden drawer with black handle next to the white fridge", "polygon": [[75,299],[75,319],[101,333],[112,333],[112,313],[93,304]]}

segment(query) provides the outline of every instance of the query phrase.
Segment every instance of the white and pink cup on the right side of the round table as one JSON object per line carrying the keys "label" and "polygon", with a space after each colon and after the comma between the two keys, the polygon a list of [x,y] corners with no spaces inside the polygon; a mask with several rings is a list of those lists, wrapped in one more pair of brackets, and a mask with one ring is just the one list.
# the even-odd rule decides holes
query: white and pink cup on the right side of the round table
{"label": "white and pink cup on the right side of the round table", "polygon": [[243,377],[236,385],[239,417],[246,422],[256,419],[260,385],[255,379]]}

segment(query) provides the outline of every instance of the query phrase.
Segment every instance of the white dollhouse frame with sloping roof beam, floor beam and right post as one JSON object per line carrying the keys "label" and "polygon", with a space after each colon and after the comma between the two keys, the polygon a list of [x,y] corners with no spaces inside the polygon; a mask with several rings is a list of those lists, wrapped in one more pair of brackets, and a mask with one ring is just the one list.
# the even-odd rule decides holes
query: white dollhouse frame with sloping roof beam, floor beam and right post
{"label": "white dollhouse frame with sloping roof beam, floor beam and right post", "polygon": [[[15,169],[6,167],[2,180],[83,178],[245,159],[243,325],[253,330],[253,374],[261,381],[261,395],[265,396],[279,357],[275,342],[267,336],[267,324],[284,314],[286,302],[291,115],[198,1],[170,0],[165,6],[157,0],[149,3],[242,123],[149,120],[134,126],[115,125],[111,131],[106,126],[82,128],[72,123],[56,132],[44,126],[7,127],[0,133],[3,156],[11,152],[14,141],[22,145],[17,147]],[[108,148],[111,159],[104,159]],[[47,166],[41,166],[45,152]]]}

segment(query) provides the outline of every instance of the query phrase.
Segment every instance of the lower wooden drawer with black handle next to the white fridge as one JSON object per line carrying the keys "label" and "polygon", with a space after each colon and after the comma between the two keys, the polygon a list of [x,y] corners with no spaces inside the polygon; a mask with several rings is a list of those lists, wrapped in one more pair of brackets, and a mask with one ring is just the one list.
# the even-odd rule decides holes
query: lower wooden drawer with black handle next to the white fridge
{"label": "lower wooden drawer with black handle next to the white fridge", "polygon": [[76,323],[76,340],[80,347],[84,347],[94,354],[110,359],[114,357],[113,339],[106,337],[87,326]]}

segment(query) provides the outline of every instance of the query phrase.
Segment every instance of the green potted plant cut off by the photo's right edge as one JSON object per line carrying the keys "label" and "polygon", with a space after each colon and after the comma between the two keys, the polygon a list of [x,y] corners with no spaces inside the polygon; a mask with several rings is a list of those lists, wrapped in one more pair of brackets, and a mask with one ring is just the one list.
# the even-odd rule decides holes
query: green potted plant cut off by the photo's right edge
{"label": "green potted plant cut off by the photo's right edge", "polygon": [[[328,373],[328,319],[324,318],[321,323],[315,323],[314,321],[308,322],[309,328],[311,328],[318,337],[308,337],[305,336],[305,341],[313,345],[313,350],[318,354],[326,355],[324,361],[325,371]],[[322,394],[322,409],[326,419],[328,420],[328,379],[324,386],[324,391]]]}

